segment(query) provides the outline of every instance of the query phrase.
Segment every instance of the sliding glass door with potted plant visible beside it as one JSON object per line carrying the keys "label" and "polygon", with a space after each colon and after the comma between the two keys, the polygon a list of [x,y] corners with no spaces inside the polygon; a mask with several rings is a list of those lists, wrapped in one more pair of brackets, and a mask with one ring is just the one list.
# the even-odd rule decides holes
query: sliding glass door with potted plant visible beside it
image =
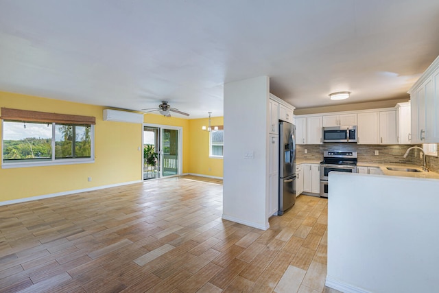
{"label": "sliding glass door with potted plant visible beside it", "polygon": [[143,126],[143,179],[181,174],[182,128]]}

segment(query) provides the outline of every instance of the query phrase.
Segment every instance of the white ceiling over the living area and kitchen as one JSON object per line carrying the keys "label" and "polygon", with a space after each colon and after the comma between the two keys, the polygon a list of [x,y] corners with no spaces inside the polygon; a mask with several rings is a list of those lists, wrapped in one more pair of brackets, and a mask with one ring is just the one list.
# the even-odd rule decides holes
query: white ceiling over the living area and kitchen
{"label": "white ceiling over the living area and kitchen", "polygon": [[261,75],[297,108],[408,97],[438,55],[436,0],[0,0],[0,91],[189,118]]}

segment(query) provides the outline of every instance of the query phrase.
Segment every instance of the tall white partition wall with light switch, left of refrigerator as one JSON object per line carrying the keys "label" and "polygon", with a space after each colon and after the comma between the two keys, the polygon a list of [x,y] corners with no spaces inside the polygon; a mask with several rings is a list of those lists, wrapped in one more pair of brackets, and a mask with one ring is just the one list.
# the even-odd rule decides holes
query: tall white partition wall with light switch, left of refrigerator
{"label": "tall white partition wall with light switch, left of refrigerator", "polygon": [[[224,194],[222,218],[267,229],[267,76],[224,84]],[[244,159],[247,152],[254,159]]]}

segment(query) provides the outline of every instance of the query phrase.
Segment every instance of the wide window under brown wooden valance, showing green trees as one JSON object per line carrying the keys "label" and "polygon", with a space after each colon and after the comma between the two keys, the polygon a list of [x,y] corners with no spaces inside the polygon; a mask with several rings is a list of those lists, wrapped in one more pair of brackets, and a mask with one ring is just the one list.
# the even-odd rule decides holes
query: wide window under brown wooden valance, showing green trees
{"label": "wide window under brown wooden valance, showing green trees", "polygon": [[92,163],[89,124],[3,121],[3,167]]}

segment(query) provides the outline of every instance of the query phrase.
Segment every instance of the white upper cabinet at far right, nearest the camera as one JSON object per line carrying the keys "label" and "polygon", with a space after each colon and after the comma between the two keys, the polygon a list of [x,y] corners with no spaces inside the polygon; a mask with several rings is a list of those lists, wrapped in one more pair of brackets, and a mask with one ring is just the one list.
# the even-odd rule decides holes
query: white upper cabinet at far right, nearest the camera
{"label": "white upper cabinet at far right, nearest the camera", "polygon": [[412,143],[439,143],[439,57],[408,91]]}

